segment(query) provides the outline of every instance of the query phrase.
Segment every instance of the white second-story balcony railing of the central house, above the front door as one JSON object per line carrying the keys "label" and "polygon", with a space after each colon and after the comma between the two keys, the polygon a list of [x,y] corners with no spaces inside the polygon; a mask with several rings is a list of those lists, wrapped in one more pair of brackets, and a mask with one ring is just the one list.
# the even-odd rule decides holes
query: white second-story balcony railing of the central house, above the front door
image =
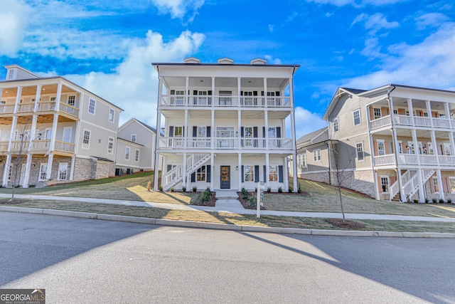
{"label": "white second-story balcony railing of the central house, above the front door", "polygon": [[201,150],[293,150],[291,138],[238,138],[238,137],[160,137],[160,149],[201,149]]}

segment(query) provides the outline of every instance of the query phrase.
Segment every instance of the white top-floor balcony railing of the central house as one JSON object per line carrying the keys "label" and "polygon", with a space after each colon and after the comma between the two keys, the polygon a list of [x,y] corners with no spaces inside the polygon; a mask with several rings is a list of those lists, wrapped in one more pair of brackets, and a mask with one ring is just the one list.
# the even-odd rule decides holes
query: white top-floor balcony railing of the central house
{"label": "white top-floor balcony railing of the central house", "polygon": [[161,95],[161,107],[291,108],[290,97]]}

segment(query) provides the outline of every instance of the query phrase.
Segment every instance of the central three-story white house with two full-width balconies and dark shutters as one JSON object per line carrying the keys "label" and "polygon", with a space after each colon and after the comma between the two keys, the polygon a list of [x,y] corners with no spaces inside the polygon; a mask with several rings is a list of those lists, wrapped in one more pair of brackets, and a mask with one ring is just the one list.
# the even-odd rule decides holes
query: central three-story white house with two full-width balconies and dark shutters
{"label": "central three-story white house with two full-width balconies and dark shutters", "polygon": [[254,190],[261,181],[266,189],[287,191],[287,160],[296,151],[292,79],[299,65],[228,58],[152,65],[159,74],[157,127],[164,117],[155,155],[155,167],[164,157],[164,189]]}

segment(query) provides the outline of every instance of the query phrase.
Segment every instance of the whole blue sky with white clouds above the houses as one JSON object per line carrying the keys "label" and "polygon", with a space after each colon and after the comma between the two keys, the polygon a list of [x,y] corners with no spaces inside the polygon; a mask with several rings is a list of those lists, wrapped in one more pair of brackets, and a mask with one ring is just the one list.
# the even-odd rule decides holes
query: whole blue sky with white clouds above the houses
{"label": "whole blue sky with white clouds above the houses", "polygon": [[[2,0],[0,63],[62,75],[156,124],[151,62],[299,64],[298,137],[336,89],[455,90],[455,4],[407,0]],[[6,70],[0,70],[4,80]]]}

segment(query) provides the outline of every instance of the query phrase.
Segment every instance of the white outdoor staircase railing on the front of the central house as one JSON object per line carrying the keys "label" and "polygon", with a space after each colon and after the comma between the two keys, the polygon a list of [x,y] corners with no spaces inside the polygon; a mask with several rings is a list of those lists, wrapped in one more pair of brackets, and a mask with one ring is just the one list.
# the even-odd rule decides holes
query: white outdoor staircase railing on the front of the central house
{"label": "white outdoor staircase railing on the front of the central house", "polygon": [[[186,158],[186,174],[196,172],[205,162],[210,159],[210,154],[191,154]],[[183,181],[183,162],[173,167],[161,177],[163,189],[168,190]]]}

